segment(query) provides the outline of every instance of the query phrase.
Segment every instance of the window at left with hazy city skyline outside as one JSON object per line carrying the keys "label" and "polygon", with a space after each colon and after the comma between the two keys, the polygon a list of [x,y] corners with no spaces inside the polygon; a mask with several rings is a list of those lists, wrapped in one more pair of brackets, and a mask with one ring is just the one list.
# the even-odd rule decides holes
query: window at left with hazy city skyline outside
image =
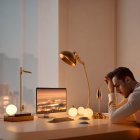
{"label": "window at left with hazy city skyline outside", "polygon": [[20,66],[25,111],[35,112],[38,81],[38,0],[0,1],[0,115],[8,104],[19,109]]}

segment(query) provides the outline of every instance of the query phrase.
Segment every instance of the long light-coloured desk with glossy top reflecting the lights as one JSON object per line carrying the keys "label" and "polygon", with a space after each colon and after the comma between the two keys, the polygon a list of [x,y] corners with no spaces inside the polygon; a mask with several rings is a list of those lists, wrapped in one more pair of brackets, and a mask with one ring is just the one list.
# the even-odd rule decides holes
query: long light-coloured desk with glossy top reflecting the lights
{"label": "long light-coloured desk with glossy top reflecting the lights", "polygon": [[137,140],[140,138],[140,128],[135,123],[111,124],[108,119],[91,119],[89,124],[85,125],[79,124],[80,121],[78,117],[74,121],[60,123],[48,123],[48,119],[38,117],[35,117],[34,121],[25,122],[0,120],[0,140]]}

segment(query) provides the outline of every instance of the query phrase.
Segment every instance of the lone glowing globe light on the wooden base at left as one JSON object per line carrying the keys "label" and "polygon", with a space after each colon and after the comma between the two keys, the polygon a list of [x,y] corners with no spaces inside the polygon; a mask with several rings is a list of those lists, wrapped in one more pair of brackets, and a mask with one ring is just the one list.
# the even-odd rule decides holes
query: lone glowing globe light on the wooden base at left
{"label": "lone glowing globe light on the wooden base at left", "polygon": [[10,104],[6,107],[6,113],[10,116],[16,114],[17,112],[17,107],[13,104]]}

